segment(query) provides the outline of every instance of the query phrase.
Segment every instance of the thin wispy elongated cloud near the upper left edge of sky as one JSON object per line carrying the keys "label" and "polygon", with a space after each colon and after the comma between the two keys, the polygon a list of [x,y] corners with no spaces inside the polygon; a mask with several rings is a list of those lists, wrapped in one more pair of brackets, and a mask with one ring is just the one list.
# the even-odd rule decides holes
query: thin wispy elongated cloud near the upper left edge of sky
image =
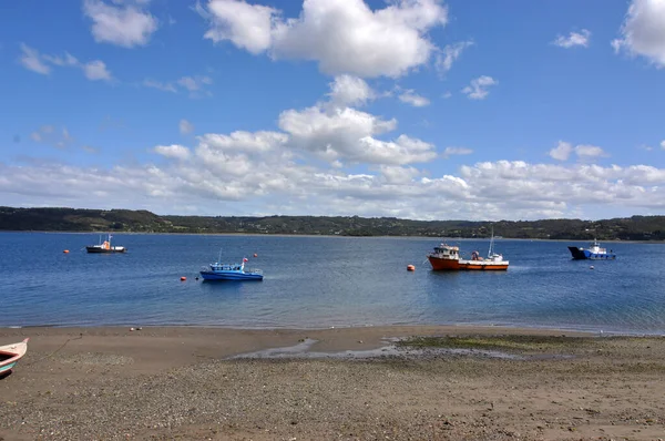
{"label": "thin wispy elongated cloud near the upper left edge of sky", "polygon": [[106,64],[101,60],[82,63],[69,52],[65,52],[64,55],[40,54],[37,49],[32,49],[24,43],[21,43],[21,51],[23,53],[19,61],[23,68],[43,75],[51,73],[51,66],[79,68],[88,80],[113,80]]}

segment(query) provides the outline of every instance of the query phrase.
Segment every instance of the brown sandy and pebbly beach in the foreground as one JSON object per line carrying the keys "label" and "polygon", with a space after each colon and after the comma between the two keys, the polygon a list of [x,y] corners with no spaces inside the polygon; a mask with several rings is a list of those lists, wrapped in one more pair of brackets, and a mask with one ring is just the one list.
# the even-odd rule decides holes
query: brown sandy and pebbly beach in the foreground
{"label": "brown sandy and pebbly beach in the foreground", "polygon": [[665,439],[662,337],[0,329],[0,345],[24,337],[0,440]]}

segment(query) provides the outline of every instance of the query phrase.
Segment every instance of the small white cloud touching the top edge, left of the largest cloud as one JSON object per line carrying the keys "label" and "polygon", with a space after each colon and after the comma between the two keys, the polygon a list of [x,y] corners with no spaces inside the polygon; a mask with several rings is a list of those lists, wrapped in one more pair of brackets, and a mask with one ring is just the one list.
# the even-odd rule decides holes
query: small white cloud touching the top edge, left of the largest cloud
{"label": "small white cloud touching the top edge, left of the largest cloud", "polygon": [[83,12],[92,21],[92,35],[98,43],[124,48],[145,45],[157,30],[157,20],[144,8],[147,1],[84,0]]}

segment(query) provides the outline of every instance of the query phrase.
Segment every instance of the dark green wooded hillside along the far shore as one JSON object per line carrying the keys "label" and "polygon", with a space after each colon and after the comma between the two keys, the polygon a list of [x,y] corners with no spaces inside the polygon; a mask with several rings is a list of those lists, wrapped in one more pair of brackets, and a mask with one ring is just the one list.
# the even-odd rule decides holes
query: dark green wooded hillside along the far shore
{"label": "dark green wooded hillside along the far shore", "polygon": [[359,216],[161,216],[147,211],[0,207],[0,230],[665,240],[665,216],[603,221],[410,221]]}

